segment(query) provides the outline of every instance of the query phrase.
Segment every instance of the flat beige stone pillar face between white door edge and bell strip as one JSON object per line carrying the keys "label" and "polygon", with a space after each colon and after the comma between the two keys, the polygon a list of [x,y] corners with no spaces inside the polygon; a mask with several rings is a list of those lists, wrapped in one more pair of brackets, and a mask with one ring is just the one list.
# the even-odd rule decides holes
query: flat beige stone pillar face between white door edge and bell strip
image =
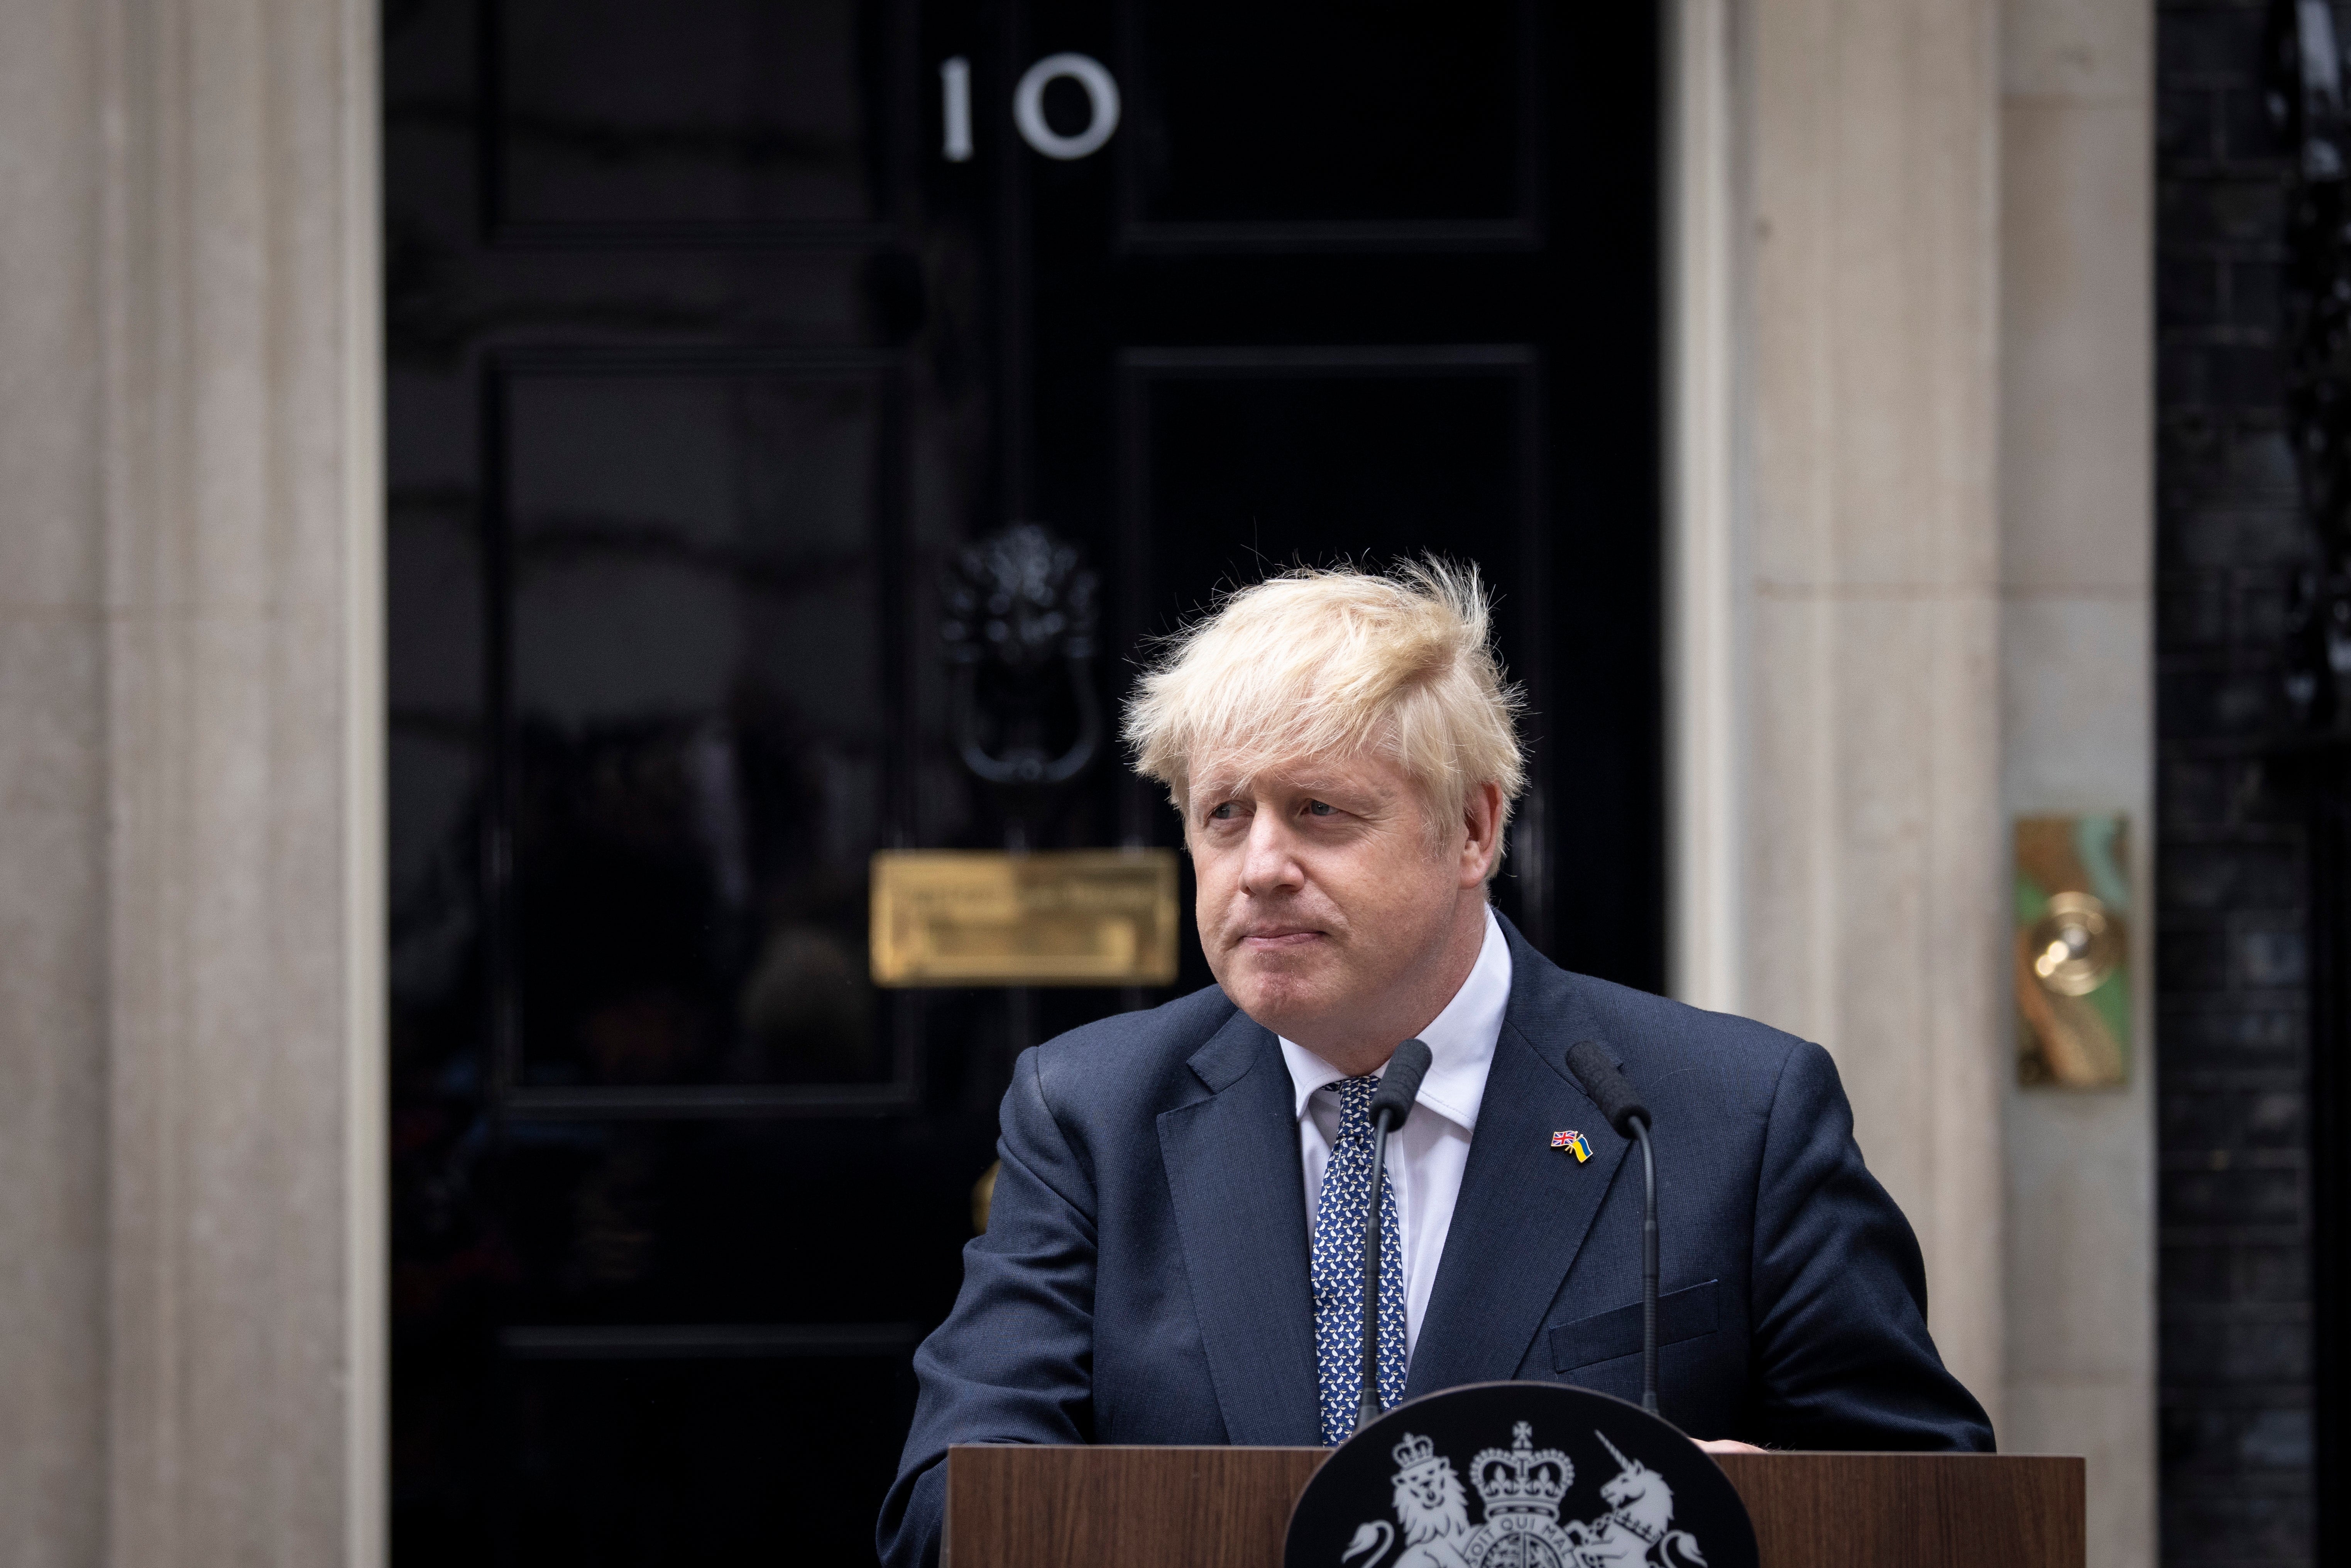
{"label": "flat beige stone pillar face between white door edge and bell strip", "polygon": [[1747,1004],[1822,1041],[2001,1420],[1989,0],[1756,0]]}

